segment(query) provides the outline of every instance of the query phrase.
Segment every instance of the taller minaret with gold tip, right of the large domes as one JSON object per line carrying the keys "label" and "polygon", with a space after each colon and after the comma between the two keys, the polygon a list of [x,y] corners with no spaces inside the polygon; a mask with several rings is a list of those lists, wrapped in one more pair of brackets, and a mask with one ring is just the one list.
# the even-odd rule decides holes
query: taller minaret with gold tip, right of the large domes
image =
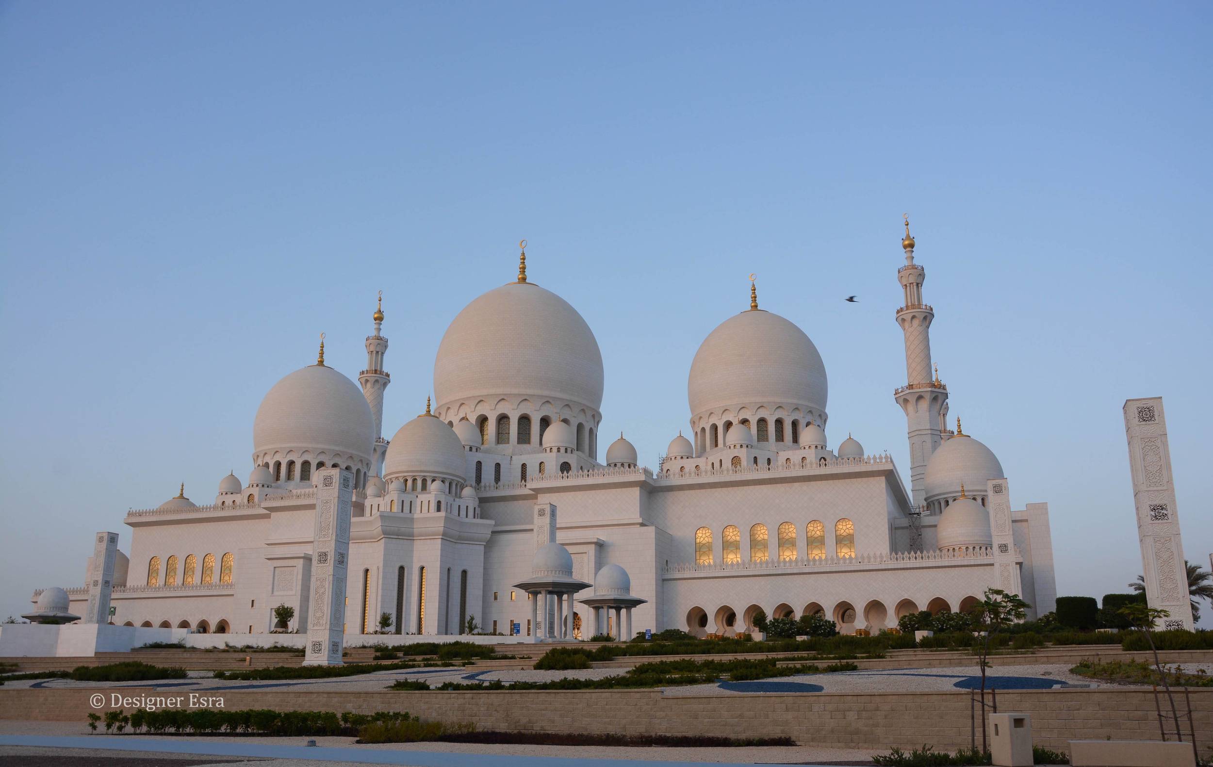
{"label": "taller minaret with gold tip, right of the large domes", "polygon": [[910,488],[913,504],[926,501],[924,478],[927,459],[941,443],[943,414],[947,408],[947,387],[936,374],[930,376],[930,322],[935,311],[922,302],[926,269],[913,262],[913,238],[910,217],[904,216],[906,235],[901,249],[906,265],[898,269],[898,282],[905,291],[905,305],[898,309],[898,324],[906,341],[906,385],[894,392],[894,398],[906,414],[906,434],[910,439]]}

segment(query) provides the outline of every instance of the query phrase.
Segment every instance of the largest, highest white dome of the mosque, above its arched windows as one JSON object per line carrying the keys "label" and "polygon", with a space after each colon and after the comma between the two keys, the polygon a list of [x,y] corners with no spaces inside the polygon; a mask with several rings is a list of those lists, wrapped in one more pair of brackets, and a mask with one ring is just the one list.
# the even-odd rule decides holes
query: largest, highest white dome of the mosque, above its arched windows
{"label": "largest, highest white dome of the mosque, above its arched windows", "polygon": [[564,299],[534,283],[495,288],[463,307],[434,360],[439,411],[511,394],[602,405],[603,357],[594,334]]}

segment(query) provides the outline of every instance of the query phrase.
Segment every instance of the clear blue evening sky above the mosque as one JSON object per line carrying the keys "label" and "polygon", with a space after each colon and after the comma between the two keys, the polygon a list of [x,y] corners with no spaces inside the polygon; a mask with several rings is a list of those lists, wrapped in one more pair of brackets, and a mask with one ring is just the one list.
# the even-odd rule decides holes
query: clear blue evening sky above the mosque
{"label": "clear blue evening sky above the mosque", "polygon": [[951,411],[1050,504],[1059,592],[1140,572],[1132,397],[1166,399],[1208,567],[1211,32],[1200,2],[5,2],[0,615],[82,583],[90,533],[129,549],[129,507],[246,476],[261,397],[320,331],[357,375],[377,290],[391,436],[520,238],[644,462],[756,272],[821,351],[831,445],[909,478],[906,211]]}

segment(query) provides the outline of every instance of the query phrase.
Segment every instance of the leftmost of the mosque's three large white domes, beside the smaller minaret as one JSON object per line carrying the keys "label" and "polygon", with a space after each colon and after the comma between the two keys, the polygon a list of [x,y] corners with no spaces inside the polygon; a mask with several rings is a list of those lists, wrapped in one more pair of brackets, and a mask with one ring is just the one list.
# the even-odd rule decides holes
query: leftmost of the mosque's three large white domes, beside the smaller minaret
{"label": "leftmost of the mosque's three large white domes, beside the smaller minaret", "polygon": [[368,464],[375,421],[353,381],[325,365],[308,365],[274,384],[252,424],[254,461],[287,450],[360,458]]}

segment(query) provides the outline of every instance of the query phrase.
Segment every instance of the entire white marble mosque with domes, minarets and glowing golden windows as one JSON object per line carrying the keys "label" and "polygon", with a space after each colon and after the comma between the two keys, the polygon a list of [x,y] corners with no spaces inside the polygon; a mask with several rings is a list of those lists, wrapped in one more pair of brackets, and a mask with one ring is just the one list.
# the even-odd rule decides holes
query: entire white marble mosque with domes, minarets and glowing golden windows
{"label": "entire white marble mosque with domes, minarets and glowing golden windows", "polygon": [[[599,410],[598,342],[568,301],[528,279],[524,252],[516,280],[451,322],[434,400],[391,439],[381,305],[357,384],[324,364],[321,340],[315,364],[257,409],[246,476],[222,477],[206,505],[181,488],[130,511],[116,552],[110,540],[97,555],[109,602],[90,559],[84,587],[35,592],[30,617],[108,610],[119,626],[306,634],[321,556],[314,477],[334,467],[353,482],[347,575],[335,586],[347,640],[378,630],[383,614],[393,634],[461,635],[472,619],[523,641],[728,636],[759,609],[876,632],[910,612],[964,609],[990,586],[1021,593],[1033,615],[1049,612],[1048,505],[1012,506],[995,453],[958,420],[949,428],[909,222],[901,244],[906,384],[893,399],[907,422],[909,484],[862,434],[830,426],[821,356],[759,308],[753,283],[748,306],[699,347],[689,420],[679,432],[670,414],[677,436],[659,465],[642,466],[622,436],[600,450],[619,428]],[[295,609],[286,625],[280,604]]]}

